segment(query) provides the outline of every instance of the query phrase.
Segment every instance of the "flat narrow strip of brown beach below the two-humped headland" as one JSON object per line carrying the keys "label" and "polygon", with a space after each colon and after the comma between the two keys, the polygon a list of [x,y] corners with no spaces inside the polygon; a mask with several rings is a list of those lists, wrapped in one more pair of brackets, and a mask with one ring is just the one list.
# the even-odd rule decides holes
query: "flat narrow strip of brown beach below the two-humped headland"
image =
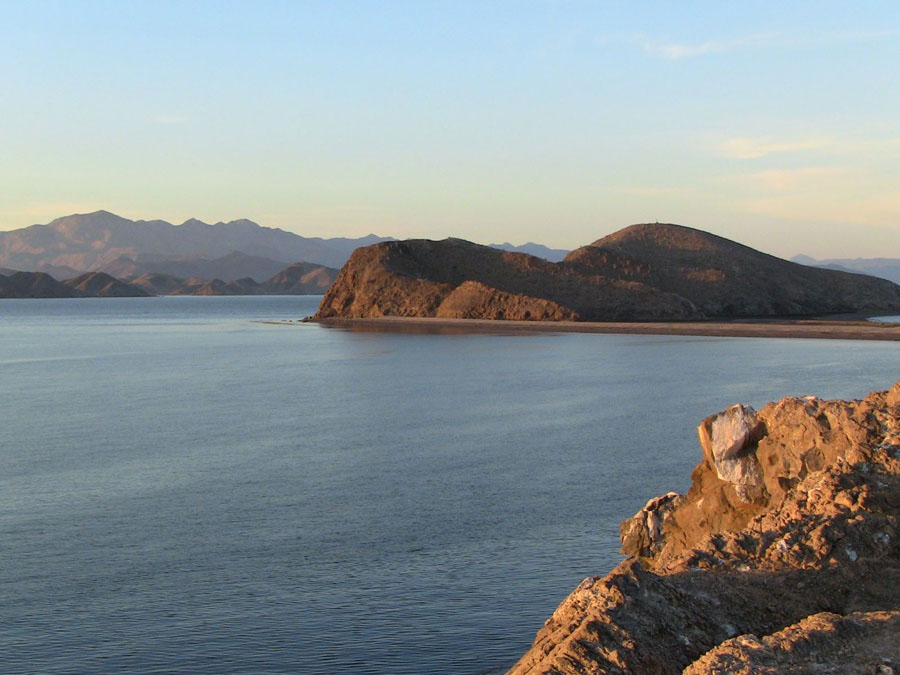
{"label": "flat narrow strip of brown beach below the two-humped headland", "polygon": [[304,319],[325,328],[362,332],[425,334],[601,333],[688,337],[801,338],[819,340],[900,341],[900,323],[847,319],[775,319],[744,321],[504,321],[386,316],[364,319]]}

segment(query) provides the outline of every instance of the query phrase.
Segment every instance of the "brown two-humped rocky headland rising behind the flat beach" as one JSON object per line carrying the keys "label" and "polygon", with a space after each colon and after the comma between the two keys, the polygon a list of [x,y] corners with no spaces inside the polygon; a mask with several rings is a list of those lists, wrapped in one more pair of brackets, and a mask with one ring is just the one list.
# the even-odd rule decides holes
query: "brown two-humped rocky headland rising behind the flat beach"
{"label": "brown two-humped rocky headland rising behind the flat beach", "polygon": [[552,263],[459,239],[358,249],[315,318],[665,320],[900,310],[900,286],[645,224]]}

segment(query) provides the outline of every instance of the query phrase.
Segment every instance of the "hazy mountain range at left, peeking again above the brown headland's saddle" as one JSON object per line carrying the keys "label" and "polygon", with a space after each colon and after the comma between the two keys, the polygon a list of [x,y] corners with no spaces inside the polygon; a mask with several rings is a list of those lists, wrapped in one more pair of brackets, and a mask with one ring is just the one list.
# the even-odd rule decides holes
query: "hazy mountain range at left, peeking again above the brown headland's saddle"
{"label": "hazy mountain range at left, peeking again above the brown headland's saddle", "polygon": [[[374,234],[357,239],[302,237],[250,220],[210,225],[192,218],[173,225],[96,211],[0,232],[0,273],[46,272],[57,280],[84,272],[106,272],[126,280],[164,274],[223,282],[250,278],[264,283],[289,264],[338,268],[360,246],[392,240]],[[533,243],[495,247],[548,260],[561,260],[566,254]]]}

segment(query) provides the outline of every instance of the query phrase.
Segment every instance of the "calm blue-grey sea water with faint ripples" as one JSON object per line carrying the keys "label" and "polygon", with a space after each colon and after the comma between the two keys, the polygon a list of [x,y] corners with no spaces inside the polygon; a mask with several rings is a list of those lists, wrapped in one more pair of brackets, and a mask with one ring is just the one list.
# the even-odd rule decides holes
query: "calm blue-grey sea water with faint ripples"
{"label": "calm blue-grey sea water with faint ripples", "polygon": [[0,302],[0,672],[502,669],[702,417],[900,378],[897,343],[266,322],[318,300]]}

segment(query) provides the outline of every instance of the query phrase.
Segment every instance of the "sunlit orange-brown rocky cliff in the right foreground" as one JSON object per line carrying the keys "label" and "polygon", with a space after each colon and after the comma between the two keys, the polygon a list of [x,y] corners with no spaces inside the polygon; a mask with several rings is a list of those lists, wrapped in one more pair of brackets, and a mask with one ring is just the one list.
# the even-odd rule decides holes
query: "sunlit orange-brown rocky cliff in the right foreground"
{"label": "sunlit orange-brown rocky cliff in the right foreground", "polygon": [[900,383],[735,405],[698,434],[689,491],[622,523],[630,557],[585,579],[510,673],[900,667]]}

